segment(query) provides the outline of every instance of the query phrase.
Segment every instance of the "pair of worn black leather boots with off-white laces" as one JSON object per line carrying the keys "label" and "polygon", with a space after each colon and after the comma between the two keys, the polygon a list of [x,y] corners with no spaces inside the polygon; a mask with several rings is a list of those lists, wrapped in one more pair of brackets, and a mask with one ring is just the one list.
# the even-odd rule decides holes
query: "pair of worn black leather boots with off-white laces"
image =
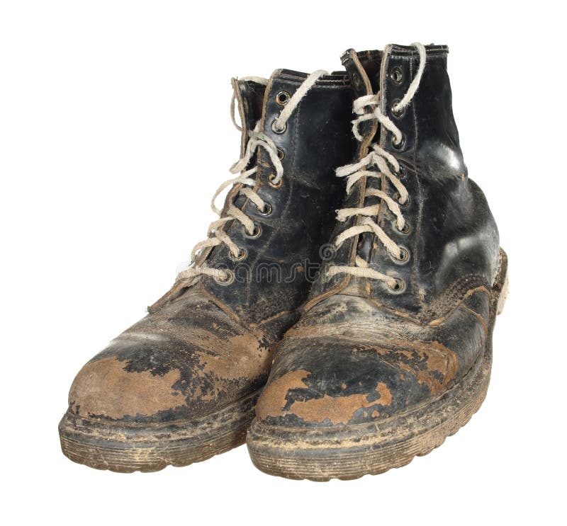
{"label": "pair of worn black leather boots with off-white laces", "polygon": [[220,218],[74,379],[67,457],[154,471],[247,440],[269,474],[352,479],[471,418],[507,258],[467,176],[447,53],[349,50],[343,72],[232,81],[242,159]]}

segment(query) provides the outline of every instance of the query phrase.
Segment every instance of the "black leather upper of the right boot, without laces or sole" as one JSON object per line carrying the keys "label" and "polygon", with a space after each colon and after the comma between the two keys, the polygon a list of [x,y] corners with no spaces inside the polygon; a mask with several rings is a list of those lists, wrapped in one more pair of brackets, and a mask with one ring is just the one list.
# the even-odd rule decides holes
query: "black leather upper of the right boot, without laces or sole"
{"label": "black leather upper of the right boot, without laces or sole", "polygon": [[[362,234],[339,247],[329,264],[353,264],[358,255],[378,272],[402,278],[406,287],[393,294],[379,280],[322,274],[301,321],[276,348],[257,404],[259,420],[287,428],[378,422],[441,396],[481,358],[499,264],[498,229],[464,165],[447,52],[445,46],[427,46],[420,87],[400,117],[391,108],[417,72],[415,48],[345,53],[356,96],[381,91],[383,113],[405,137],[396,149],[390,132],[363,123],[364,140],[351,162],[366,155],[371,140],[400,161],[410,194],[402,208],[410,231],[395,228],[386,206],[374,219],[408,248],[410,258],[400,264],[374,236]],[[399,86],[390,76],[394,67],[403,72]],[[361,179],[343,207],[374,204],[364,199],[371,185],[395,193],[385,178]],[[332,239],[356,221],[337,222]]]}

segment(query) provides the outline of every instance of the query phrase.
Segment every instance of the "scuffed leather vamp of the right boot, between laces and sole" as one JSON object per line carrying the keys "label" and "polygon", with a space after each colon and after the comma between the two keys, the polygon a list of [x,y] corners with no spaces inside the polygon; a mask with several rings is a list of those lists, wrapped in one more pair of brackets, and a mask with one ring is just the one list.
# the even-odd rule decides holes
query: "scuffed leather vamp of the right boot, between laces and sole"
{"label": "scuffed leather vamp of the right boot, between laces and sole", "polygon": [[454,386],[488,333],[489,297],[477,291],[436,326],[333,295],[291,328],[276,350],[257,418],[318,428],[388,418]]}

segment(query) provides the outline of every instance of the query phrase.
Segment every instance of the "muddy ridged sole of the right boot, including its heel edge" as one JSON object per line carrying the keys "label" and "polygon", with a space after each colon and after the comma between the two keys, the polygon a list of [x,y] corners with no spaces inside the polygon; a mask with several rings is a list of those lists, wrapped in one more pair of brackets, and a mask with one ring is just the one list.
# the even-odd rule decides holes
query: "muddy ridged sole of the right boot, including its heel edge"
{"label": "muddy ridged sole of the right boot, including its heel edge", "polygon": [[507,290],[507,256],[500,249],[485,351],[461,382],[442,396],[383,421],[339,429],[281,428],[254,420],[247,435],[254,465],[287,479],[350,480],[405,466],[442,445],[468,423],[485,399],[495,318],[503,310]]}

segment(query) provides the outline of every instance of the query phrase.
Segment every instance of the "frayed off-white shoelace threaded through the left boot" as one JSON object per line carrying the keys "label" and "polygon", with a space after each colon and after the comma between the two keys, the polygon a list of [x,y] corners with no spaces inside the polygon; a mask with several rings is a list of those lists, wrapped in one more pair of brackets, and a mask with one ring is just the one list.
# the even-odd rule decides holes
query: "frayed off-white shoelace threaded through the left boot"
{"label": "frayed off-white shoelace threaded through the left boot", "polygon": [[[293,93],[293,96],[289,98],[286,105],[281,110],[279,116],[274,120],[272,127],[276,131],[283,131],[286,128],[286,122],[291,117],[293,110],[296,109],[297,105],[301,102],[301,99],[305,97],[307,92],[315,85],[315,82],[320,78],[322,75],[326,75],[327,72],[319,69],[316,72],[310,74],[305,81],[299,86],[297,91]],[[264,84],[266,86],[268,84],[268,79],[263,79],[261,77],[245,77],[241,80],[251,80],[257,82],[258,84]],[[236,93],[232,96],[232,101],[230,103],[230,113],[232,122],[234,123],[237,130],[242,131],[242,127],[240,127],[235,119],[235,100],[236,100]],[[237,221],[242,224],[245,231],[248,235],[254,235],[256,231],[256,225],[252,219],[250,219],[245,212],[242,212],[239,208],[235,207],[232,202],[228,203],[228,207],[226,210],[226,214],[223,217],[220,217],[222,214],[222,210],[218,209],[215,206],[215,200],[218,198],[218,195],[225,190],[230,185],[241,185],[242,188],[239,190],[239,195],[244,195],[248,200],[252,201],[254,205],[257,206],[258,210],[261,212],[268,212],[269,205],[266,203],[252,188],[256,185],[256,181],[252,178],[254,174],[257,172],[257,166],[249,168],[246,170],[245,168],[248,166],[252,156],[256,153],[259,148],[264,148],[267,154],[269,155],[271,164],[274,166],[276,173],[271,178],[272,185],[279,185],[281,179],[283,178],[283,166],[278,156],[278,149],[274,141],[272,141],[269,137],[266,137],[260,130],[260,121],[257,122],[254,130],[248,132],[248,144],[246,146],[245,154],[242,156],[242,159],[237,161],[233,164],[230,168],[230,173],[237,174],[240,173],[239,176],[235,178],[231,178],[228,181],[225,181],[218,187],[218,190],[213,195],[213,199],[210,202],[210,207],[219,216],[219,219],[213,221],[208,227],[208,238],[204,241],[200,241],[195,246],[193,246],[193,250],[191,251],[191,264],[189,268],[186,270],[182,270],[176,278],[176,281],[179,280],[188,280],[192,278],[196,278],[200,275],[209,275],[215,278],[215,280],[219,280],[221,282],[227,281],[230,276],[225,270],[221,270],[218,268],[210,268],[204,263],[203,265],[196,265],[196,257],[200,251],[203,251],[206,248],[212,248],[214,246],[218,246],[220,244],[225,244],[228,246],[230,250],[230,254],[233,258],[240,258],[242,257],[242,251],[240,247],[230,239],[230,236],[223,231],[223,225],[228,223],[229,221]],[[250,188],[252,187],[252,188]],[[235,196],[236,198],[236,196]]]}

